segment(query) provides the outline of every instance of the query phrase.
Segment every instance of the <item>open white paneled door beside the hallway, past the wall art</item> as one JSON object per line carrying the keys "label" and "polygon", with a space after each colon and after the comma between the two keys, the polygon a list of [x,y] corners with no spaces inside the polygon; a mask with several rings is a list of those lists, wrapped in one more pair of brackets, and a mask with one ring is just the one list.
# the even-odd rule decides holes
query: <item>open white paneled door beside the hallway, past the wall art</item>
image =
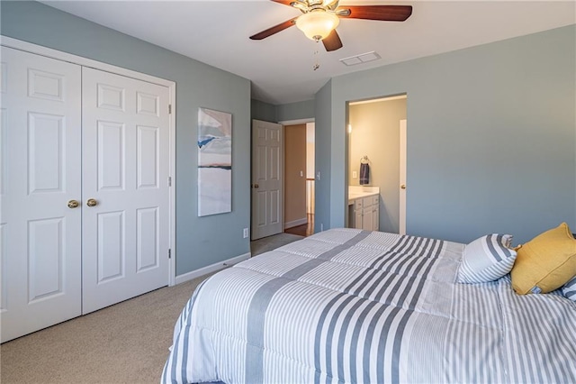
{"label": "open white paneled door beside the hallway, past the wall art", "polygon": [[252,240],[283,231],[283,126],[252,122]]}

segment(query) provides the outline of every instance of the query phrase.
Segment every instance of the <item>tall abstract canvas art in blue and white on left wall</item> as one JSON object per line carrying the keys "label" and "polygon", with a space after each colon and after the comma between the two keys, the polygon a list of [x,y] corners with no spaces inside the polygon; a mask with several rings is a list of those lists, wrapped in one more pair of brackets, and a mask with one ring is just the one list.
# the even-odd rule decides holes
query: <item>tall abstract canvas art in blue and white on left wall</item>
{"label": "tall abstract canvas art in blue and white on left wall", "polygon": [[232,211],[232,114],[198,110],[198,215]]}

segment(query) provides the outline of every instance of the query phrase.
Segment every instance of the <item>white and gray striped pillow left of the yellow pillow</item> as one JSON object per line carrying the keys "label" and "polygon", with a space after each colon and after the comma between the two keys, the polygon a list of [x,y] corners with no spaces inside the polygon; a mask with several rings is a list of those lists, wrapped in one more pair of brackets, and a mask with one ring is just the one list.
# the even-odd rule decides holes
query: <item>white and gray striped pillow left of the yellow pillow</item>
{"label": "white and gray striped pillow left of the yellow pillow", "polygon": [[484,283],[500,279],[514,266],[517,253],[509,248],[512,235],[492,233],[467,244],[457,281]]}

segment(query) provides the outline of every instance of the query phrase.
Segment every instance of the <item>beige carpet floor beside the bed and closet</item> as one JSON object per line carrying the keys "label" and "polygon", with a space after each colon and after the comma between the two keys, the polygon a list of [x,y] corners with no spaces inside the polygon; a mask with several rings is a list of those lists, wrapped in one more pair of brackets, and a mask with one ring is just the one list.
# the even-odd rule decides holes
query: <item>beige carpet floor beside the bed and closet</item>
{"label": "beige carpet floor beside the bed and closet", "polygon": [[[281,233],[252,242],[257,255],[301,239]],[[6,383],[158,383],[175,321],[208,276],[109,306],[0,346]]]}

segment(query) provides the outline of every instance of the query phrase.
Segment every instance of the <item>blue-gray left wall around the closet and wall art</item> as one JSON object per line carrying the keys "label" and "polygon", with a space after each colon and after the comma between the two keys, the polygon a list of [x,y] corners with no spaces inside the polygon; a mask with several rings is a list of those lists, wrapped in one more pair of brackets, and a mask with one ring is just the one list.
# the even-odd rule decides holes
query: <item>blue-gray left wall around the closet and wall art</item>
{"label": "blue-gray left wall around the closet and wall art", "polygon": [[[1,32],[176,82],[176,274],[247,253],[250,82],[172,51],[33,2],[1,2]],[[232,213],[197,217],[197,111],[232,114]],[[225,239],[225,241],[223,241]]]}

